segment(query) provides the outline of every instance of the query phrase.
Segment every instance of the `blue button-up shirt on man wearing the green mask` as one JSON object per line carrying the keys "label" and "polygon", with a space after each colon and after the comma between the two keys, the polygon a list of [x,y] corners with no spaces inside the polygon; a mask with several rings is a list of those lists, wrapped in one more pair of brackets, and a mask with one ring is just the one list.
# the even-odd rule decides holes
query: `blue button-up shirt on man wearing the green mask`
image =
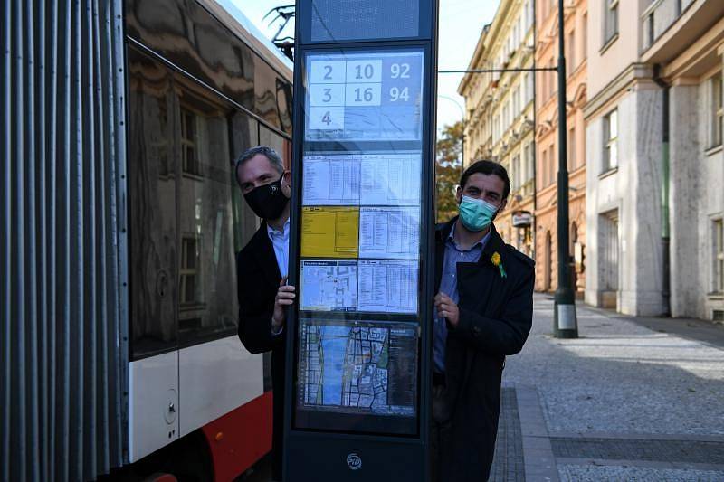
{"label": "blue button-up shirt on man wearing the green mask", "polygon": [[[440,290],[458,303],[457,265],[458,263],[476,263],[481,259],[482,250],[491,238],[491,232],[483,236],[481,241],[472,245],[470,250],[462,250],[455,242],[455,224],[445,240],[445,254],[443,258],[443,277],[440,279]],[[445,318],[435,312],[434,338],[433,338],[433,367],[435,372],[445,373],[445,344],[447,343],[447,324]]]}

